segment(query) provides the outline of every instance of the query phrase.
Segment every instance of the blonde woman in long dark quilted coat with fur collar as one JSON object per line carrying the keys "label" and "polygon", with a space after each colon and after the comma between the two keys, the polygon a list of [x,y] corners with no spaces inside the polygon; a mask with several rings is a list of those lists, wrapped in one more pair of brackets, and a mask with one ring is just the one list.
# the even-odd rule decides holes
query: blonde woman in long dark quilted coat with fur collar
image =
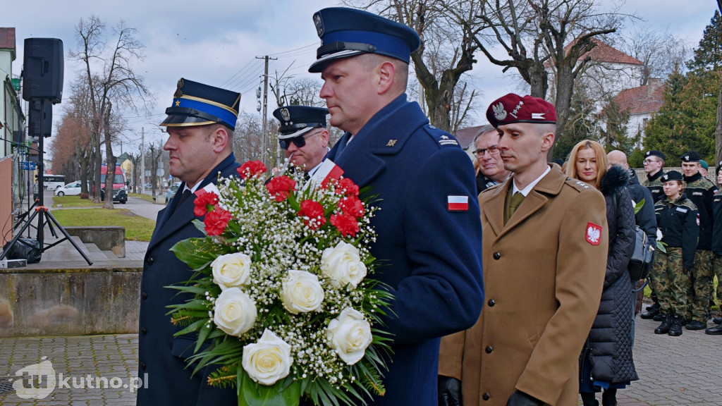
{"label": "blonde woman in long dark quilted coat with fur collar", "polygon": [[599,189],[606,200],[609,254],[604,290],[587,344],[580,356],[579,392],[585,406],[599,405],[594,392],[604,389],[603,406],[617,405],[617,389],[638,378],[632,360],[635,295],[627,264],[635,244],[629,175],[617,165],[608,167],[599,142],[584,140],[570,152],[567,176]]}

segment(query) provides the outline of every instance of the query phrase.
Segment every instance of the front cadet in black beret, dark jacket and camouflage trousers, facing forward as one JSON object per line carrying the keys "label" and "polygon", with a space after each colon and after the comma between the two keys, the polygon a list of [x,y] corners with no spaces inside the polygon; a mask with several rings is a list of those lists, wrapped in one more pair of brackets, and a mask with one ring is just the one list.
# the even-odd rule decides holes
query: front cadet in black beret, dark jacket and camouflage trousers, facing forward
{"label": "front cadet in black beret, dark jacket and camouflage trousers, facing forward", "polygon": [[687,311],[690,269],[695,264],[695,247],[700,230],[697,207],[682,194],[682,173],[670,170],[662,176],[665,197],[654,205],[661,241],[666,253],[657,251],[652,278],[664,321],[655,334],[682,335],[682,319]]}

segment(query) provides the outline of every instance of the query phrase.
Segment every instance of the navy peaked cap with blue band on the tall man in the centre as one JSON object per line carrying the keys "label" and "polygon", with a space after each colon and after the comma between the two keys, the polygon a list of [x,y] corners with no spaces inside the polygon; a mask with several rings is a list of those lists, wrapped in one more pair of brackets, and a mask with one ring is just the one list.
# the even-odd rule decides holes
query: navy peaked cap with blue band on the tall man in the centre
{"label": "navy peaked cap with blue band on the tall man in the centre", "polygon": [[411,53],[419,49],[421,38],[411,27],[370,12],[329,7],[313,14],[321,47],[308,72],[321,72],[328,61],[378,53],[409,64]]}

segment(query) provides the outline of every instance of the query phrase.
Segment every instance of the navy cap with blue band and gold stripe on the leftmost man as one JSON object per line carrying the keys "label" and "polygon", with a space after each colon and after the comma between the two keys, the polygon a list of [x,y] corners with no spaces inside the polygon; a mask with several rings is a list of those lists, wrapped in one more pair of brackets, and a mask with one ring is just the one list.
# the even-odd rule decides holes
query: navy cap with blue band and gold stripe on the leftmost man
{"label": "navy cap with blue band and gold stripe on the leftmost man", "polygon": [[173,105],[165,109],[168,117],[161,126],[204,126],[225,124],[235,129],[240,93],[204,85],[192,80],[178,80]]}

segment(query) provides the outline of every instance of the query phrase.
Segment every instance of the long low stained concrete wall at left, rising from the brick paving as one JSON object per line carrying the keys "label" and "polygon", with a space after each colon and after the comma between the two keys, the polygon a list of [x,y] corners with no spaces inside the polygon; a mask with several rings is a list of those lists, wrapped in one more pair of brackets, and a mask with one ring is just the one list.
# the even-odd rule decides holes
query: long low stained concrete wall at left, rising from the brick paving
{"label": "long low stained concrete wall at left, rising from the brick paving", "polygon": [[142,270],[0,269],[0,337],[137,332]]}

